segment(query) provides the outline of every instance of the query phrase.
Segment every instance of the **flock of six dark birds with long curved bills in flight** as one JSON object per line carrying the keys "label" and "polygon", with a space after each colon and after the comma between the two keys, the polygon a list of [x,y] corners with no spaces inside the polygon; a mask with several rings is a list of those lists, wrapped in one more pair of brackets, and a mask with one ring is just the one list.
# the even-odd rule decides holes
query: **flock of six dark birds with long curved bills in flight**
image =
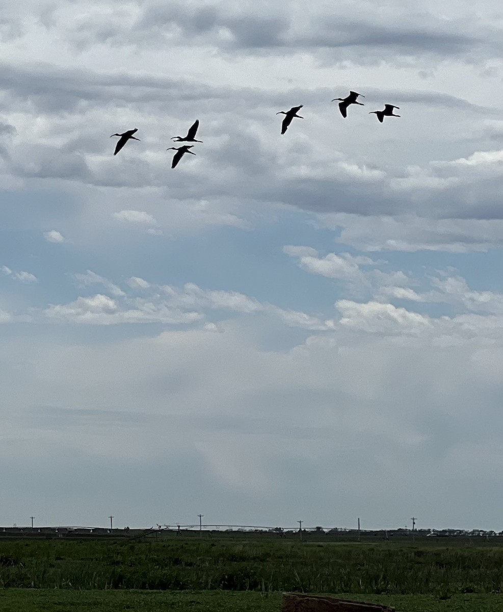
{"label": "flock of six dark birds with long curved bills in flight", "polygon": [[[357,99],[360,96],[362,98],[365,97],[362,94],[357,94],[356,91],[350,91],[349,95],[346,96],[345,98],[334,98],[332,102],[336,102],[337,100],[340,100],[338,104],[339,110],[341,111],[341,115],[344,118],[346,118],[348,116],[348,106],[349,105],[357,104],[359,106],[365,106],[362,102],[357,101]],[[304,105],[300,104],[299,106],[292,106],[292,108],[289,111],[280,111],[279,113],[276,113],[276,114],[285,115],[285,119],[283,119],[283,123],[281,124],[282,134],[284,134],[286,130],[288,130],[288,126],[291,124],[292,119],[294,117],[297,117],[299,119],[304,119],[304,117],[297,114],[298,111],[302,108],[302,106]],[[382,123],[385,117],[400,117],[400,115],[393,113],[394,108],[398,109],[399,107],[393,106],[392,104],[385,104],[384,110],[371,111],[369,114],[375,113],[379,121]],[[202,143],[203,142],[202,140],[196,140],[196,137],[195,137],[198,131],[198,127],[199,127],[199,119],[196,119],[196,121],[190,126],[190,129],[188,130],[187,136],[185,136],[185,138],[183,138],[182,136],[173,136],[171,140],[174,140],[177,143]],[[117,141],[114,155],[117,155],[117,153],[121,151],[122,147],[125,145],[125,143],[127,143],[128,140],[131,140],[131,139],[140,140],[140,138],[136,138],[136,136],[133,136],[133,134],[136,132],[138,132],[137,127],[135,127],[134,130],[127,130],[127,132],[124,132],[122,134],[112,134],[112,136],[121,136],[121,138],[119,138],[119,140]],[[112,136],[110,136],[110,138]],[[173,151],[176,151],[176,153],[173,155],[173,162],[171,163],[171,168],[176,168],[177,163],[182,159],[182,157],[184,157],[185,153],[190,153],[190,155],[195,155],[195,153],[189,150],[189,149],[192,149],[193,146],[194,146],[193,144],[183,144],[181,147],[169,147],[168,149],[166,149],[166,151],[170,151],[171,149],[173,149]]]}

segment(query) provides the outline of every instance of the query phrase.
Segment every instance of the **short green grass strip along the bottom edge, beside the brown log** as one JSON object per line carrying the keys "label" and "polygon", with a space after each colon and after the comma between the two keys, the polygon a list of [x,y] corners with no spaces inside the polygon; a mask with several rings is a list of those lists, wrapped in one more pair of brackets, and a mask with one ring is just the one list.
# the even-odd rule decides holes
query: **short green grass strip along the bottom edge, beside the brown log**
{"label": "short green grass strip along the bottom edge, beside the brown log", "polygon": [[[397,612],[501,612],[503,595],[335,595],[385,603]],[[2,612],[279,612],[281,593],[0,589]]]}

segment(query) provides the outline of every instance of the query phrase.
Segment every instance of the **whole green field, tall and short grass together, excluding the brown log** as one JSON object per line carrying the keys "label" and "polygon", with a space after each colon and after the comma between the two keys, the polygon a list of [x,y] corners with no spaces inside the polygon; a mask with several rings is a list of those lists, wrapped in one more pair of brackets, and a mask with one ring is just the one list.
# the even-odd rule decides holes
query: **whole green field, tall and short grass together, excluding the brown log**
{"label": "whole green field, tall and short grass together, excluding the brown log", "polygon": [[0,540],[0,610],[267,612],[282,591],[401,612],[501,610],[503,548],[481,544]]}

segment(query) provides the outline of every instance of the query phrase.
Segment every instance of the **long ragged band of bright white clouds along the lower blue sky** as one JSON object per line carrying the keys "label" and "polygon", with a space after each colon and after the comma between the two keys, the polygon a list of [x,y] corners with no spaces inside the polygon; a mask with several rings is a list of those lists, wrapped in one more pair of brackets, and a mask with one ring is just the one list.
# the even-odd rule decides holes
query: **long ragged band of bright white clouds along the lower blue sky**
{"label": "long ragged band of bright white clouds along the lower blue sky", "polygon": [[[338,258],[345,261],[345,258]],[[351,259],[351,258],[350,258]],[[330,260],[329,260],[330,261]],[[366,261],[368,266],[376,262]],[[43,311],[53,320],[110,325],[125,323],[163,323],[167,325],[193,324],[204,321],[206,312],[222,311],[239,315],[262,315],[281,321],[288,327],[318,332],[337,332],[341,328],[359,330],[382,337],[416,337],[428,345],[458,345],[478,337],[481,342],[493,341],[496,330],[503,325],[503,294],[490,291],[472,291],[466,280],[449,276],[447,272],[436,277],[425,277],[430,289],[417,292],[406,286],[410,280],[402,272],[383,273],[372,269],[368,278],[371,299],[356,301],[339,299],[333,312],[325,316],[285,309],[269,302],[260,302],[254,297],[237,291],[202,289],[195,283],[186,283],[183,288],[172,285],[155,285],[140,277],[130,277],[126,284],[133,291],[141,290],[142,297],[127,294],[110,280],[94,272],[76,274],[81,286],[100,283],[109,289],[116,299],[103,294],[78,297],[68,304],[51,305]],[[414,283],[419,280],[412,279]],[[397,282],[403,282],[397,285]],[[445,303],[454,305],[458,311],[453,317],[436,318],[397,307],[387,300],[408,300],[422,304]],[[472,314],[473,313],[473,314]],[[491,316],[493,318],[491,319]],[[212,315],[213,316],[213,315]],[[204,323],[206,330],[220,330],[220,322]]]}

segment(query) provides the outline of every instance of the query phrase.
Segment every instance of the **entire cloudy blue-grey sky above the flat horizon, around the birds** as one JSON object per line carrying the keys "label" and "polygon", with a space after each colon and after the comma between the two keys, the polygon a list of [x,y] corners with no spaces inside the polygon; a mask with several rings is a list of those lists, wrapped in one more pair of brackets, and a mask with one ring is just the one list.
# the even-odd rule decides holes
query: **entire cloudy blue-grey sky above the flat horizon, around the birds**
{"label": "entire cloudy blue-grey sky above the flat horizon, around the birds", "polygon": [[502,34],[497,0],[7,0],[0,523],[503,528]]}

